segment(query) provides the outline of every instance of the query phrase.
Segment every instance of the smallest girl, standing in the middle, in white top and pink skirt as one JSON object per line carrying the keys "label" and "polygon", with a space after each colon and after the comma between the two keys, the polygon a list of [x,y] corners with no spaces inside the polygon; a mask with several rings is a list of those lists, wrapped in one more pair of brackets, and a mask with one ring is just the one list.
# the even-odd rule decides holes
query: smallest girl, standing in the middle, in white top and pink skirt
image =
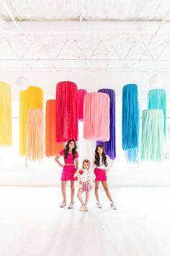
{"label": "smallest girl, standing in the middle, in white top and pink skirt", "polygon": [[[89,210],[87,207],[87,203],[89,202],[89,194],[91,189],[93,188],[93,182],[95,179],[95,175],[90,170],[90,161],[85,159],[83,161],[83,168],[80,171],[76,171],[76,174],[74,174],[75,180],[77,180],[79,184],[79,190],[77,193],[77,197],[79,198],[81,202],[81,207],[79,210]],[[86,199],[85,203],[83,198],[81,197],[81,194],[83,192],[86,192]]]}

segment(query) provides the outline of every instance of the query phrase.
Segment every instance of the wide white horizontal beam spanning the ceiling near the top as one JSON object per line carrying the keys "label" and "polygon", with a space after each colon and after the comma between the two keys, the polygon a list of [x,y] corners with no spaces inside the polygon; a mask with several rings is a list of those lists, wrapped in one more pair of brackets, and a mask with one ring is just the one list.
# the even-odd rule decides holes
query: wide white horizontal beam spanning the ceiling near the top
{"label": "wide white horizontal beam spanning the ceiling near the top", "polygon": [[[15,27],[14,27],[15,25]],[[4,22],[0,33],[24,33],[24,35],[153,35],[170,36],[170,22],[164,21],[164,26],[161,25],[161,30],[158,29],[160,22],[140,22],[136,21],[87,21],[87,22],[63,22],[63,21],[48,21],[48,22]],[[17,28],[17,29],[16,29]],[[157,32],[156,32],[157,31]]]}

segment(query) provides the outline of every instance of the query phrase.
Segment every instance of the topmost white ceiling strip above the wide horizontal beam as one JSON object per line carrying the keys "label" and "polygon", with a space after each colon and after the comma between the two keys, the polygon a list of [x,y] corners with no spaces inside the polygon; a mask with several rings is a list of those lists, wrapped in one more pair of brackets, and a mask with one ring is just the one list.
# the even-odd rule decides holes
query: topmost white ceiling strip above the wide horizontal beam
{"label": "topmost white ceiling strip above the wide horizontal beam", "polygon": [[[15,20],[162,20],[169,0],[1,0]],[[1,17],[11,20],[1,6]],[[170,17],[169,17],[170,20]]]}

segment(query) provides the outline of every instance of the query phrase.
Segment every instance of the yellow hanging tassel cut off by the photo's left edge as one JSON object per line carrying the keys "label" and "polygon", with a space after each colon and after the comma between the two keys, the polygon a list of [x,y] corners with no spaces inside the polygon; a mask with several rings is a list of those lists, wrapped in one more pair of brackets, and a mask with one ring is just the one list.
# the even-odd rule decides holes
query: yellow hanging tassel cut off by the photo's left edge
{"label": "yellow hanging tassel cut off by the photo's left edge", "polygon": [[12,91],[0,82],[0,146],[12,145]]}

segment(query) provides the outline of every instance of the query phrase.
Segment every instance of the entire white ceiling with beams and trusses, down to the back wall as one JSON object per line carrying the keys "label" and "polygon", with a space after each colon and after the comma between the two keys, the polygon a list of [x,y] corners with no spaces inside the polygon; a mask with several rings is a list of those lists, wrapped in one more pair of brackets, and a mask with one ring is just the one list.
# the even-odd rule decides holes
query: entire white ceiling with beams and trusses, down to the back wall
{"label": "entire white ceiling with beams and trusses, down to the back wall", "polygon": [[19,69],[22,56],[33,69],[153,69],[155,59],[157,69],[170,69],[170,0],[0,0],[0,7],[0,72]]}

